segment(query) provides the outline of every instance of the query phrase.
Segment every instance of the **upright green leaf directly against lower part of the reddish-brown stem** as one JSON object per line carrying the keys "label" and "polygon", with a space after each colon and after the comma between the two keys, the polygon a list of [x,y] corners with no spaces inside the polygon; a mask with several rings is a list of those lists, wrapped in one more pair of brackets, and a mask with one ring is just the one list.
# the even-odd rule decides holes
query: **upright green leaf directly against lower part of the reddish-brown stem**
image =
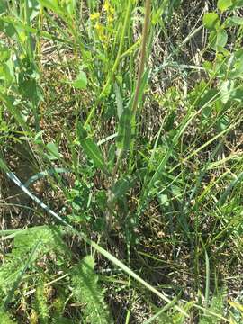
{"label": "upright green leaf directly against lower part of the reddish-brown stem", "polygon": [[118,125],[118,136],[116,140],[118,154],[126,151],[130,147],[131,138],[131,118],[130,107],[124,108]]}

